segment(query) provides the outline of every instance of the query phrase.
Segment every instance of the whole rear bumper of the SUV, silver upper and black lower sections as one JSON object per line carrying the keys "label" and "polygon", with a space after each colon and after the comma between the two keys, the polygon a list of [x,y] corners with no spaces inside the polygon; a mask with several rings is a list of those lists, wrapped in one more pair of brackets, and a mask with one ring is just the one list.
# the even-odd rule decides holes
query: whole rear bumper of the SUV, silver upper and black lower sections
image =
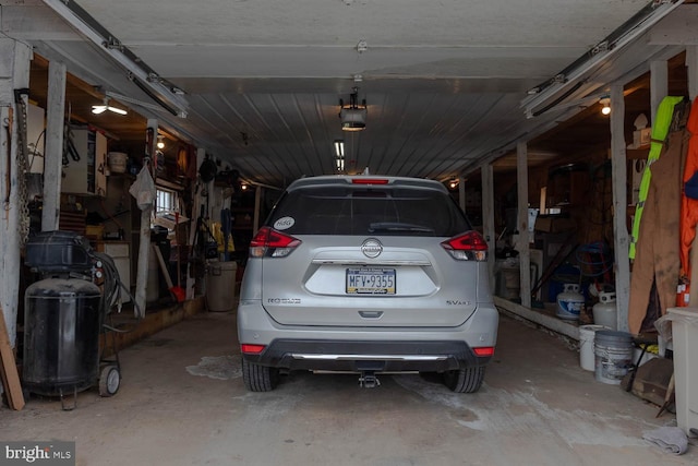
{"label": "whole rear bumper of the SUV, silver upper and black lower sections", "polygon": [[493,304],[481,303],[456,327],[290,326],[274,321],[260,300],[242,300],[238,338],[265,346],[243,354],[245,360],[280,369],[440,372],[490,362],[472,348],[496,345],[498,319]]}

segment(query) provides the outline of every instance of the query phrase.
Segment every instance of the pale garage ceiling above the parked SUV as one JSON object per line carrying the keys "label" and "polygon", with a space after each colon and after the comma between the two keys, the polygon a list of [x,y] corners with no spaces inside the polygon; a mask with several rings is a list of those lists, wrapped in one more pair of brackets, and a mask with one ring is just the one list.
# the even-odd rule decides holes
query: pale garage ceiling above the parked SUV
{"label": "pale garage ceiling above the parked SUV", "polygon": [[[467,175],[518,141],[531,141],[537,160],[578,154],[588,136],[575,139],[569,129],[541,134],[585,108],[576,127],[586,121],[587,131],[607,134],[598,96],[614,80],[638,79],[649,61],[683,50],[681,34],[695,28],[698,7],[673,10],[679,3],[24,0],[3,2],[0,11],[4,34],[64,62],[86,83],[68,96],[79,118],[127,141],[143,141],[144,119],[157,118],[249,181],[282,187],[336,172],[338,139],[349,172],[369,167],[440,180]],[[79,33],[67,19],[82,9],[93,29]],[[95,29],[110,50],[86,38]],[[119,50],[142,60],[158,89],[176,89],[164,97],[186,118],[154,109],[156,101],[112,58]],[[45,76],[35,61],[35,75]],[[683,61],[672,63],[672,76],[685,70]],[[565,80],[553,80],[563,70]],[[38,81],[32,88],[40,101]],[[628,92],[629,111],[649,105],[647,80],[638,83]],[[366,100],[366,129],[342,132],[339,99],[348,101],[353,87]],[[106,91],[135,99],[116,100],[142,118],[91,115]]]}

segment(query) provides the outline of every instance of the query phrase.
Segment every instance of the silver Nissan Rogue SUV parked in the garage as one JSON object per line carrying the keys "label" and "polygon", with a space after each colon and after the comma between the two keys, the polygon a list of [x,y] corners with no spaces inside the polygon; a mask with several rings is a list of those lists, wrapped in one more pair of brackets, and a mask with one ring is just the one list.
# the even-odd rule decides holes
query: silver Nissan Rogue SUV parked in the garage
{"label": "silver Nissan Rogue SUV parked in the garage", "polygon": [[437,181],[376,176],[289,186],[250,244],[238,308],[243,380],[292,370],[438,372],[482,385],[497,336],[488,246]]}

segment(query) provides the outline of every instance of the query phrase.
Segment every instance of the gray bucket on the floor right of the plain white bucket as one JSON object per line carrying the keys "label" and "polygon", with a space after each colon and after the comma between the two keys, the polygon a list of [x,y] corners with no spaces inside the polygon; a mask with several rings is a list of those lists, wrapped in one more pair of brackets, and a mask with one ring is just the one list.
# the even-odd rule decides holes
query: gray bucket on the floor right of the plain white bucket
{"label": "gray bucket on the floor right of the plain white bucket", "polygon": [[593,348],[597,381],[619,385],[633,366],[633,335],[614,330],[598,331]]}

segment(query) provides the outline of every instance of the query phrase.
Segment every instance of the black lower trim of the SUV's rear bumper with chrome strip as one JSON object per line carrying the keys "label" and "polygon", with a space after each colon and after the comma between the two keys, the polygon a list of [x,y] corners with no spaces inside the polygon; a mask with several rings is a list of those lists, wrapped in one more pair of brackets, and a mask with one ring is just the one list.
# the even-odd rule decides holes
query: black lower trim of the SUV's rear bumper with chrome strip
{"label": "black lower trim of the SUV's rear bumper with chrome strip", "polygon": [[287,370],[435,371],[486,365],[465,342],[372,342],[275,339],[261,354],[243,354],[254,363]]}

